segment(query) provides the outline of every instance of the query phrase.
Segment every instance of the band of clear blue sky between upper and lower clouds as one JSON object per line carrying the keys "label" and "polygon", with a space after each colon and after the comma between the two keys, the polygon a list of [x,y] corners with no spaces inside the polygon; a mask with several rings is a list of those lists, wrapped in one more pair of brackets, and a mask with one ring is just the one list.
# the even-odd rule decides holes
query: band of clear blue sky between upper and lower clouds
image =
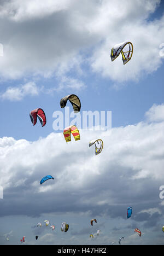
{"label": "band of clear blue sky between upper and lower clouds", "polygon": [[[139,82],[128,82],[122,89],[112,88],[112,82],[102,79],[97,75],[89,74],[85,78],[87,88],[78,93],[82,102],[81,110],[110,110],[112,111],[112,126],[119,127],[128,124],[136,124],[144,120],[144,114],[153,104],[163,103],[163,82],[162,82],[163,66],[150,75],[145,75]],[[21,84],[21,82],[18,82]],[[46,85],[46,81],[44,81]],[[48,81],[53,86],[54,80]],[[17,85],[15,82],[11,86]],[[2,88],[8,86],[4,83]],[[93,89],[95,88],[95,89]],[[101,92],[99,91],[101,89]],[[2,90],[3,91],[3,90]],[[47,136],[53,132],[52,123],[54,118],[52,114],[56,110],[64,110],[60,108],[60,100],[63,96],[74,93],[73,90],[55,92],[54,95],[27,96],[24,100],[10,102],[1,101],[2,112],[1,137],[14,137],[15,139],[25,138],[30,141],[38,139],[39,136]],[[91,101],[89,99],[92,99]],[[71,105],[68,105],[71,107]],[[42,128],[37,123],[37,128],[31,125],[30,111],[37,107],[43,108],[46,113],[48,124]],[[12,111],[11,111],[12,109]],[[14,115],[13,115],[14,109]],[[71,111],[71,110],[70,110]],[[8,124],[8,125],[7,125]],[[37,131],[36,131],[37,130]]]}

